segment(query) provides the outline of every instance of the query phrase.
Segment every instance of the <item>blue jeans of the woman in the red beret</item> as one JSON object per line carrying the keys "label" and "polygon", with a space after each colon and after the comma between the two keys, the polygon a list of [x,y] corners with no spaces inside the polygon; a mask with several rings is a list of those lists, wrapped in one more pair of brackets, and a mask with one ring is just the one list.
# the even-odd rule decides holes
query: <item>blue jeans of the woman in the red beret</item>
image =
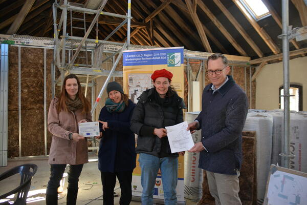
{"label": "blue jeans of the woman in the red beret", "polygon": [[178,179],[178,158],[163,157],[159,158],[150,154],[140,153],[141,184],[143,187],[142,204],[153,204],[153,193],[159,168],[162,175],[164,192],[164,204],[177,204],[177,179]]}

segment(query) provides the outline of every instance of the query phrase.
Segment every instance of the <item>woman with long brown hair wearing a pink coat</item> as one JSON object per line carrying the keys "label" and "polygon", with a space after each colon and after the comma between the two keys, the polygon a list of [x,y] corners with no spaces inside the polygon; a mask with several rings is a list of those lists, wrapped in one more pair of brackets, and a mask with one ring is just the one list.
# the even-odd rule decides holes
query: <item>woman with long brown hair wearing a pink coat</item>
{"label": "woman with long brown hair wearing a pink coat", "polygon": [[86,138],[78,134],[78,123],[87,121],[92,121],[91,104],[82,93],[78,77],[67,75],[61,94],[52,99],[48,113],[48,130],[52,134],[48,205],[57,204],[57,188],[66,165],[69,165],[67,204],[76,204],[79,176],[83,164],[88,162]]}

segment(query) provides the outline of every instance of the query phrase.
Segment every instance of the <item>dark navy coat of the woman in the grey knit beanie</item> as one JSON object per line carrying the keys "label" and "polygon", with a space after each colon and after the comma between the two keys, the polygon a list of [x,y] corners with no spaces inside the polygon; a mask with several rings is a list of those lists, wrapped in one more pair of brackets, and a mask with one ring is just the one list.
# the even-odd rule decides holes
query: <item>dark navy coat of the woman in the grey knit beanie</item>
{"label": "dark navy coat of the woman in the grey knit beanie", "polygon": [[104,106],[99,114],[99,120],[107,121],[109,127],[100,132],[102,138],[99,144],[98,168],[102,172],[130,171],[136,167],[135,134],[130,131],[130,119],[135,104],[129,100],[123,112],[109,113]]}

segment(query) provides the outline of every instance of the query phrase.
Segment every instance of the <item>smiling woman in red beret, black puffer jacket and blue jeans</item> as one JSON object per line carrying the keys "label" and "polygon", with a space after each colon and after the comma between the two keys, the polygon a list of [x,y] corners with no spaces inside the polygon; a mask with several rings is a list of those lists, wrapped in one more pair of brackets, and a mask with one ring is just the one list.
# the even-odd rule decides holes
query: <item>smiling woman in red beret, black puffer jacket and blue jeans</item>
{"label": "smiling woman in red beret, black puffer jacket and blue jeans", "polygon": [[142,204],[153,204],[156,177],[161,170],[164,202],[177,204],[178,156],[171,153],[166,126],[183,122],[183,99],[170,85],[172,73],[162,69],[151,75],[154,87],[144,91],[131,117],[131,131],[138,134]]}

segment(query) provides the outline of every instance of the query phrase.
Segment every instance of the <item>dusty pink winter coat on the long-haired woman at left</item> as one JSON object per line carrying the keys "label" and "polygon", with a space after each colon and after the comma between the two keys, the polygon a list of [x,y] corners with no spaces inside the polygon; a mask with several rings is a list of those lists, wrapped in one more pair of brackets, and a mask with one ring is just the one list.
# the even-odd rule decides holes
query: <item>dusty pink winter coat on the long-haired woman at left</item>
{"label": "dusty pink winter coat on the long-haired woman at left", "polygon": [[81,109],[72,112],[57,113],[58,98],[52,99],[48,113],[48,130],[52,134],[49,153],[50,164],[80,165],[87,163],[87,140],[78,142],[69,139],[70,133],[78,133],[78,121],[92,121],[91,113],[82,114]]}

